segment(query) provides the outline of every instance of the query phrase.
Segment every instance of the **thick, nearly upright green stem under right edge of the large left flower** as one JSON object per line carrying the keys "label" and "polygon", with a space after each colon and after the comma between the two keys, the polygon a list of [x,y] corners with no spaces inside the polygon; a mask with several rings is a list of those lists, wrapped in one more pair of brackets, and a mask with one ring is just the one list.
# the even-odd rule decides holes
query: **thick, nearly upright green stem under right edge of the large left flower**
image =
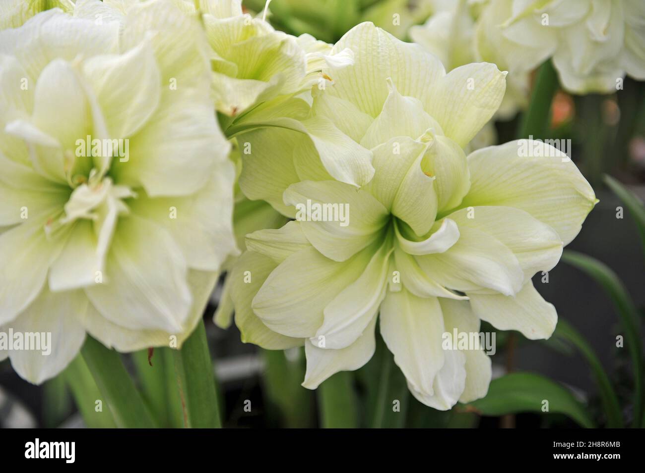
{"label": "thick, nearly upright green stem under right edge of the large left flower", "polygon": [[197,324],[181,350],[174,351],[174,355],[179,392],[183,396],[186,412],[186,427],[222,427],[213,362],[203,320]]}

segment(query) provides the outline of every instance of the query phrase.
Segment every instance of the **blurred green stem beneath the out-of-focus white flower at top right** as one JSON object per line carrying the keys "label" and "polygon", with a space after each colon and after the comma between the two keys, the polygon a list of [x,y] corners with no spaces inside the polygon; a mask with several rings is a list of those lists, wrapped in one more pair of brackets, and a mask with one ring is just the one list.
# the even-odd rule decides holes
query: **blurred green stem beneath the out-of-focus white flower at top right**
{"label": "blurred green stem beneath the out-of-focus white flower at top right", "polygon": [[551,125],[551,102],[557,89],[557,73],[551,60],[547,60],[537,72],[531,102],[526,113],[522,115],[518,138],[529,136],[533,136],[534,140],[546,138]]}

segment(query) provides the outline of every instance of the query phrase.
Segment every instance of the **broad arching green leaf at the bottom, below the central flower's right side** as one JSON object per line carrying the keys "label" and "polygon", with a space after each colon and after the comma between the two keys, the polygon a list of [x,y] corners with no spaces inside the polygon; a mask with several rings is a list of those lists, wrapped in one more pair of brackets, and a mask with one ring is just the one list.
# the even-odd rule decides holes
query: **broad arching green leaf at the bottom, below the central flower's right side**
{"label": "broad arching green leaf at the bottom, below the central flower's right side", "polygon": [[542,375],[511,373],[491,381],[488,394],[467,405],[484,416],[515,413],[542,413],[543,401],[549,402],[549,413],[566,414],[582,427],[595,425],[583,405],[566,387]]}

